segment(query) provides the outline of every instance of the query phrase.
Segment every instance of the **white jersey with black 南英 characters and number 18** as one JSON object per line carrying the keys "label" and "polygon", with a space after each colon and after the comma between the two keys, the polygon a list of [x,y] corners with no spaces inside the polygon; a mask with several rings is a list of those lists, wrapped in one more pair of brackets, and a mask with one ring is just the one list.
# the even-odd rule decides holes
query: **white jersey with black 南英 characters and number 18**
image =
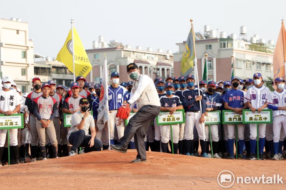
{"label": "white jersey with black \u5357\u82f1 characters and number 18", "polygon": [[0,90],[0,109],[5,111],[13,111],[15,107],[22,104],[23,99],[15,90],[3,91]]}

